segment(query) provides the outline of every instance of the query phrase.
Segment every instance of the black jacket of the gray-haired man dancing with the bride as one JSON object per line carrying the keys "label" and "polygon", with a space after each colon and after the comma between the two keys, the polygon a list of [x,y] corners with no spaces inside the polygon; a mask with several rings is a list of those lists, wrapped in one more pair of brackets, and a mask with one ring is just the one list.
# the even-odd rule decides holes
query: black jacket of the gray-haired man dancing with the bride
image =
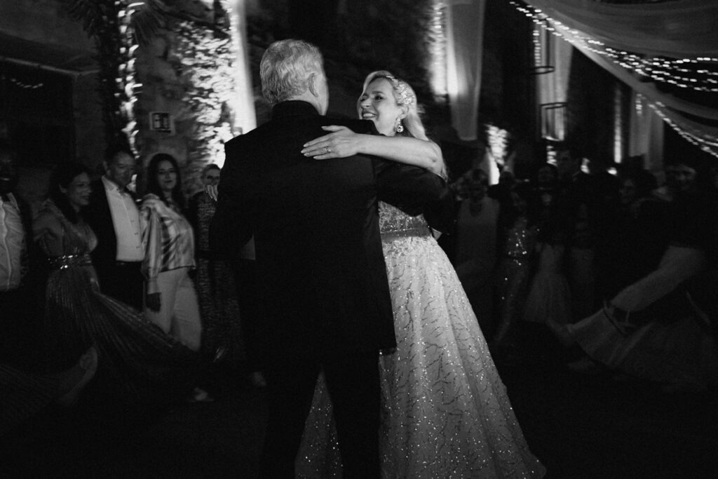
{"label": "black jacket of the gray-haired man dancing with the bride", "polygon": [[370,121],[327,118],[309,103],[285,101],[271,121],[225,145],[213,243],[238,250],[254,236],[258,300],[270,341],[285,352],[393,348],[377,202],[417,214],[447,192],[418,167],[360,155],[304,157],[302,145],[331,124],[376,134]]}

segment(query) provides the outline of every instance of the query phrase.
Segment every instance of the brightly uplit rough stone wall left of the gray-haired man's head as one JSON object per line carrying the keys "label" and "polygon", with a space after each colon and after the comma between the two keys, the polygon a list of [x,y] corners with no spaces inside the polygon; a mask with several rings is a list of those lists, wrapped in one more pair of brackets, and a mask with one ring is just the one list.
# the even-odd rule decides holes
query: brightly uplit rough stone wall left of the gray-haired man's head
{"label": "brightly uplit rough stone wall left of the gray-haired man's head", "polygon": [[[215,26],[212,1],[177,2],[179,17],[151,45],[136,54],[136,76],[142,84],[135,116],[136,147],[142,164],[164,152],[182,169],[187,195],[201,189],[200,172],[208,163],[222,164],[223,142],[236,131],[233,123],[233,65],[227,29]],[[169,131],[152,128],[151,113],[169,113]],[[140,178],[142,190],[145,178]]]}

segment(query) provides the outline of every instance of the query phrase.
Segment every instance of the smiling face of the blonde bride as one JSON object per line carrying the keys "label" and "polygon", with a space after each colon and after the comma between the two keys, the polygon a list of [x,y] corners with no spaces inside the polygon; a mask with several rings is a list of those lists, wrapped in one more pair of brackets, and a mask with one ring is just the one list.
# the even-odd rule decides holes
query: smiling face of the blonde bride
{"label": "smiling face of the blonde bride", "polygon": [[403,118],[401,106],[396,104],[394,90],[386,78],[377,78],[366,85],[357,101],[359,118],[371,120],[381,134],[396,134],[398,118]]}

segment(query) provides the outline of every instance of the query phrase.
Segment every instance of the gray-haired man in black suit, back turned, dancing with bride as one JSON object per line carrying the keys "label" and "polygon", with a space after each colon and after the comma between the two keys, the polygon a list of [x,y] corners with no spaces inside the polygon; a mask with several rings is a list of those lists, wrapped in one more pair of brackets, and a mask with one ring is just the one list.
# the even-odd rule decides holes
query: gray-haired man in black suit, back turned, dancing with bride
{"label": "gray-haired man in black suit, back turned, dancing with bride", "polygon": [[262,91],[272,118],[226,144],[213,231],[215,244],[230,248],[254,234],[269,335],[262,477],[294,477],[323,369],[344,477],[378,478],[378,355],[396,339],[377,201],[419,213],[446,185],[424,169],[378,158],[304,157],[302,145],[325,134],[321,126],[376,134],[370,121],[323,116],[329,93],[322,61],[316,47],[298,40],[275,42],[264,53]]}

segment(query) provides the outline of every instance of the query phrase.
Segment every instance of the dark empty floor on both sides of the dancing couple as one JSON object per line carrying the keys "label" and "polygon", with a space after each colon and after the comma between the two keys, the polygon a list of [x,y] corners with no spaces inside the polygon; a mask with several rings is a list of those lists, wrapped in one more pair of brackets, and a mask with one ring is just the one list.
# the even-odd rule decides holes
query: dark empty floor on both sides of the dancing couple
{"label": "dark empty floor on both sides of the dancing couple", "polygon": [[[718,394],[572,373],[554,348],[497,364],[548,479],[718,477]],[[264,392],[226,371],[211,403],[47,411],[0,447],[0,478],[253,478]]]}

